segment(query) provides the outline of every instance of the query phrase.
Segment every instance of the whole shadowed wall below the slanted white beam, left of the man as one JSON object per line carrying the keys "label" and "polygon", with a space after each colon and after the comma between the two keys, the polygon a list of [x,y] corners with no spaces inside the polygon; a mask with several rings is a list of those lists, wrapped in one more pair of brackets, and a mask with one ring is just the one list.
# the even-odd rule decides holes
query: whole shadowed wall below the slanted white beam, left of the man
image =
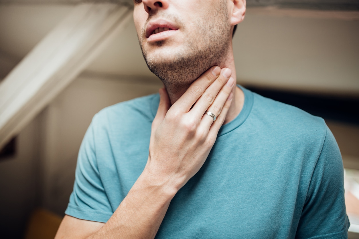
{"label": "whole shadowed wall below the slanted white beam, left of the man", "polygon": [[64,215],[78,150],[94,114],[160,87],[156,78],[136,77],[87,75],[71,83],[18,135],[17,155],[0,161],[0,229],[21,234],[36,206]]}

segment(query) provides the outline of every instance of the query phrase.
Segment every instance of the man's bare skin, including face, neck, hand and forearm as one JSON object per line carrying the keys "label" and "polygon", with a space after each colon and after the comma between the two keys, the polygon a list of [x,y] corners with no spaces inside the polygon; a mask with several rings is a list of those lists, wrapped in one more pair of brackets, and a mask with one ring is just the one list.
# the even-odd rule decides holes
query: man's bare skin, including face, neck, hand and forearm
{"label": "man's bare skin, including face, neck, hand and forearm", "polygon": [[[213,10],[218,8],[225,8],[227,13]],[[223,16],[208,17],[207,13]],[[232,39],[227,35],[232,35],[233,26],[243,20],[244,13],[242,0],[136,0],[134,21],[142,50],[165,85],[159,90],[147,164],[106,224],[66,215],[56,239],[155,237],[172,198],[205,162],[220,126],[242,109],[243,92],[235,87]],[[178,31],[172,37],[149,42],[143,38],[143,29],[156,18],[177,21]],[[203,32],[198,34],[197,24],[208,24],[210,36],[219,37],[219,41],[201,36]],[[219,43],[221,46],[213,46]],[[188,70],[191,66],[186,62],[196,53],[199,58],[208,57],[196,65],[202,67],[199,72],[197,68]],[[162,72],[161,66],[176,68],[173,62],[182,70]],[[217,116],[216,121],[204,115],[206,110]]]}

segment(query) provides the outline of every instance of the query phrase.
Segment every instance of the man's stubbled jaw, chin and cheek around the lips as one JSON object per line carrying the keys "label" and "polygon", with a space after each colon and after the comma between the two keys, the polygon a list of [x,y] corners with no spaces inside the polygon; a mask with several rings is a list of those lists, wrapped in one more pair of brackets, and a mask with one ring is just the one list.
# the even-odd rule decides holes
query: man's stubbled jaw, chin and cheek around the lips
{"label": "man's stubbled jaw, chin and cheek around the lips", "polygon": [[[165,19],[178,27],[175,37],[170,40],[148,42],[147,24],[138,27],[140,32],[137,34],[147,66],[169,91],[187,89],[208,68],[224,63],[223,56],[228,51],[231,37],[227,0],[205,6],[198,6],[201,11],[197,15],[183,4],[168,5],[165,11],[152,8],[153,14],[148,15],[146,23]],[[180,14],[178,9],[183,9],[181,13],[185,14]]]}

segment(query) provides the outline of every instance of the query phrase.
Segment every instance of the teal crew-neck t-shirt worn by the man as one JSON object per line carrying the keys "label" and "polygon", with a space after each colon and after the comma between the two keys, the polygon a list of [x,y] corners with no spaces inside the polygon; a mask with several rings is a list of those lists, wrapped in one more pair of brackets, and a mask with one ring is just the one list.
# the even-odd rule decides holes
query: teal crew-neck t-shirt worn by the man
{"label": "teal crew-neck t-shirt worn by the man", "polygon": [[[156,238],[348,238],[342,159],[324,120],[241,89],[241,113],[174,196]],[[145,96],[94,116],[67,215],[112,216],[145,167],[158,103]]]}

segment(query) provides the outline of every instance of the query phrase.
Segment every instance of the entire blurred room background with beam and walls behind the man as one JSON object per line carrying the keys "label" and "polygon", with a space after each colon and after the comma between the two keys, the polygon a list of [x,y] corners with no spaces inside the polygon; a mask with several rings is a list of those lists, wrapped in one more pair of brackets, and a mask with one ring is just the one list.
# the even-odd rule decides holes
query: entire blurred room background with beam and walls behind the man
{"label": "entire blurred room background with beam and walls behind the man", "polygon": [[[237,83],[325,119],[345,167],[349,238],[359,238],[359,2],[247,6],[233,39]],[[93,115],[160,87],[131,0],[0,0],[0,237],[53,237]]]}

